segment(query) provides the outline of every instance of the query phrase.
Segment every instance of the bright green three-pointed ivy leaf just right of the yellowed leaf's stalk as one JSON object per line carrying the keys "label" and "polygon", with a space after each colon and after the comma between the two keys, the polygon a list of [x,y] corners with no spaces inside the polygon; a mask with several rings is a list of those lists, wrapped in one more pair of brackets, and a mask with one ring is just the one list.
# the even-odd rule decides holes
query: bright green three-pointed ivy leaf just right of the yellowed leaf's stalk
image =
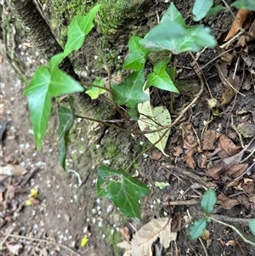
{"label": "bright green three-pointed ivy leaf just right of the yellowed leaf's stalk", "polygon": [[166,71],[167,63],[170,58],[161,60],[156,63],[153,67],[152,73],[147,77],[147,83],[145,88],[149,88],[154,85],[156,88],[161,88],[162,90],[178,93],[178,88],[173,84],[172,79],[169,77]]}

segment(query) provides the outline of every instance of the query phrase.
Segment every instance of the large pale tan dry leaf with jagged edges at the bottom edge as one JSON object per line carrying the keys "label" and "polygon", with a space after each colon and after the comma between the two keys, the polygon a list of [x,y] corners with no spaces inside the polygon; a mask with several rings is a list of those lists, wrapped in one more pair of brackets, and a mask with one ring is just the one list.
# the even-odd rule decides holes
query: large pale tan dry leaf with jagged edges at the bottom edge
{"label": "large pale tan dry leaf with jagged edges at the bottom edge", "polygon": [[152,219],[133,235],[130,243],[119,242],[117,246],[125,249],[123,256],[152,256],[151,245],[157,238],[160,239],[163,247],[169,247],[170,242],[176,240],[177,233],[171,231],[172,219],[168,220],[168,218]]}

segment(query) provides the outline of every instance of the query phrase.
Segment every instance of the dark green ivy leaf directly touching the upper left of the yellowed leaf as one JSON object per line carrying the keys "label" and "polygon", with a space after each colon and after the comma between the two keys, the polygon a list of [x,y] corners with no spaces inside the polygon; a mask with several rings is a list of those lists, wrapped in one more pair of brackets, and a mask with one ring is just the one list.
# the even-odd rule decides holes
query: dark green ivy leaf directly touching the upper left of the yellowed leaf
{"label": "dark green ivy leaf directly touching the upper left of the yellowed leaf", "polygon": [[115,103],[134,108],[139,103],[150,100],[150,97],[144,94],[143,87],[144,69],[141,69],[130,74],[122,83],[111,85]]}

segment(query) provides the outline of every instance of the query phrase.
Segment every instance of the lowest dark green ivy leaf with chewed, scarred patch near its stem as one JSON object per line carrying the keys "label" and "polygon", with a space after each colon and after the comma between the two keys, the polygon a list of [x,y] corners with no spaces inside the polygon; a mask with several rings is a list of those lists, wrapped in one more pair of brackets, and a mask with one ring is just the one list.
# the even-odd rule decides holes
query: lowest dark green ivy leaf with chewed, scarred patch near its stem
{"label": "lowest dark green ivy leaf with chewed, scarred patch near its stem", "polygon": [[127,218],[140,219],[139,199],[150,189],[126,172],[105,165],[99,167],[98,175],[98,195],[111,199]]}

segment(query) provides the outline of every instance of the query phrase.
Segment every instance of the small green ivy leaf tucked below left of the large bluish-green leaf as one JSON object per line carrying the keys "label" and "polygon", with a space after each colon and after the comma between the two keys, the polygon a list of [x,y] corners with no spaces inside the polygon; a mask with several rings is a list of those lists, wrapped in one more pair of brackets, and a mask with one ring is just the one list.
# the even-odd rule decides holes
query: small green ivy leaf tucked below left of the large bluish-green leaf
{"label": "small green ivy leaf tucked below left of the large bluish-green leaf", "polygon": [[140,37],[132,36],[128,41],[128,48],[130,51],[127,60],[124,63],[125,69],[133,69],[134,71],[139,71],[144,68],[146,56],[149,54],[149,49],[144,48],[140,45]]}

